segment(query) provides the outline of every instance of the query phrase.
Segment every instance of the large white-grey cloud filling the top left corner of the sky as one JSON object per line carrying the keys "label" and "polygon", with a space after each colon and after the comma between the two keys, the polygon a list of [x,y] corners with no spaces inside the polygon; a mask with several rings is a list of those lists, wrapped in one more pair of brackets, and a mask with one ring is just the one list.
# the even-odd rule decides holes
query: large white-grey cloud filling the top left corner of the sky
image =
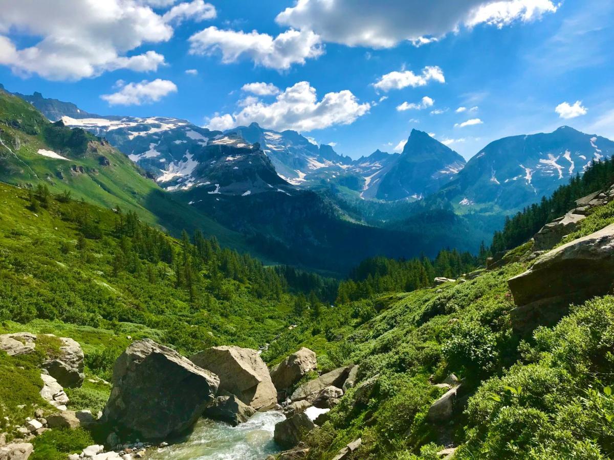
{"label": "large white-grey cloud filling the top left corner of the sky", "polygon": [[0,37],[0,63],[15,74],[50,80],[79,80],[121,68],[155,71],[162,55],[126,55],[173,35],[160,15],[136,0],[2,1],[1,9],[0,31],[18,31],[34,44],[19,48]]}

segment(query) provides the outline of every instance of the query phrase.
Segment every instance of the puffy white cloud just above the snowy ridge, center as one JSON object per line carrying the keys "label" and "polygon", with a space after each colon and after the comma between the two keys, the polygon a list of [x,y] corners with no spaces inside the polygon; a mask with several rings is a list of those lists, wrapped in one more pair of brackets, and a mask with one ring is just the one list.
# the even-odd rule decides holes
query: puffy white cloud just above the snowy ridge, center
{"label": "puffy white cloud just above the snowy ridge, center", "polygon": [[309,82],[298,82],[276,96],[271,104],[258,101],[245,105],[239,112],[216,115],[209,120],[210,129],[220,126],[249,125],[253,121],[260,126],[284,131],[312,131],[334,125],[349,125],[365,115],[371,108],[368,102],[360,104],[351,91],[327,93],[318,101],[316,89]]}

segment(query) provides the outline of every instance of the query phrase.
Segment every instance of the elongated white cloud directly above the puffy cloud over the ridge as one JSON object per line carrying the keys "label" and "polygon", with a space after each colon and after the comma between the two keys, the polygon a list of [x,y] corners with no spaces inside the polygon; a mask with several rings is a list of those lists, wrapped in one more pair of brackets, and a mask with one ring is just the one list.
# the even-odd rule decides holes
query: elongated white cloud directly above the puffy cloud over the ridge
{"label": "elongated white cloud directly above the puffy cloud over the ridge", "polygon": [[290,29],[277,37],[257,31],[222,30],[208,27],[190,37],[190,53],[211,55],[219,50],[225,64],[247,57],[254,64],[270,69],[289,69],[324,53],[320,37],[308,30]]}

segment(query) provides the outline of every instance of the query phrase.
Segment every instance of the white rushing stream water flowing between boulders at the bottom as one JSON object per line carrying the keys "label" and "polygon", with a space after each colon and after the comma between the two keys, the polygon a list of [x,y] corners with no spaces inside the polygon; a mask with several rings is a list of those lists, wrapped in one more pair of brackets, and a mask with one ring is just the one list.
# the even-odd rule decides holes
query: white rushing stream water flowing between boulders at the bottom
{"label": "white rushing stream water flowing between boulders at the bottom", "polygon": [[203,419],[185,442],[158,449],[150,459],[263,460],[281,451],[273,441],[273,432],[275,424],[285,418],[281,412],[258,412],[235,427]]}

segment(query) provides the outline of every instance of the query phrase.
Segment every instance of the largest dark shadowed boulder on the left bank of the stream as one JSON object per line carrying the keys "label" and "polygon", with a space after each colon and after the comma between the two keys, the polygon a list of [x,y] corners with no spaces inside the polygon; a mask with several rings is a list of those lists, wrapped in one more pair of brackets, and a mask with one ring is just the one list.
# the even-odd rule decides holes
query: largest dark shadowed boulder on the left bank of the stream
{"label": "largest dark shadowed boulder on the left bank of the stream", "polygon": [[115,361],[103,420],[160,439],[190,427],[218,386],[216,375],[171,348],[138,340]]}

